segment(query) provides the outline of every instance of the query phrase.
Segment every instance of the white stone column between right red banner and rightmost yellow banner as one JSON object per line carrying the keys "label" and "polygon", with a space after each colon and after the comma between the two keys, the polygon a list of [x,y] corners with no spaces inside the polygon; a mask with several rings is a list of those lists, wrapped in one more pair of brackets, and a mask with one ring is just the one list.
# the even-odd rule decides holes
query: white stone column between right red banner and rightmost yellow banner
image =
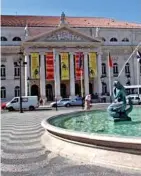
{"label": "white stone column between right red banner and rightmost yellow banner", "polygon": [[84,53],[84,88],[85,96],[89,94],[89,73],[88,73],[88,54]]}

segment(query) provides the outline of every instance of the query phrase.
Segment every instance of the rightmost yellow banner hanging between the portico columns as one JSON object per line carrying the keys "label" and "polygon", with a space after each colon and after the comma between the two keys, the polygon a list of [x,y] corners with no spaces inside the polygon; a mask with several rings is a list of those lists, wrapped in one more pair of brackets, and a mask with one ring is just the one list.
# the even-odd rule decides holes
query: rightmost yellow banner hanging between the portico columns
{"label": "rightmost yellow banner hanging between the portico columns", "polygon": [[89,53],[89,77],[97,76],[96,53]]}

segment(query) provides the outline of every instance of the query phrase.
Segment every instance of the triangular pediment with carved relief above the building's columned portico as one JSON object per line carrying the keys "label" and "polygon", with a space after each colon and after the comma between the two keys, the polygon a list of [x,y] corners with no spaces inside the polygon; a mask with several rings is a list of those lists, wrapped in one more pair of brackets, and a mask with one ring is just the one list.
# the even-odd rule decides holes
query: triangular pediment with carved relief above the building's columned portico
{"label": "triangular pediment with carved relief above the building's columned portico", "polygon": [[50,32],[42,33],[26,42],[101,42],[66,25]]}

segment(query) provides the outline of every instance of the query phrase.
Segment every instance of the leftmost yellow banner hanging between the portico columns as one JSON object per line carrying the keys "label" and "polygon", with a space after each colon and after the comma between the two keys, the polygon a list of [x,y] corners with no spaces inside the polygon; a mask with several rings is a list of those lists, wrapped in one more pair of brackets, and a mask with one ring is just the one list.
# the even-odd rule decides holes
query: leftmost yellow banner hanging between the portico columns
{"label": "leftmost yellow banner hanging between the portico columns", "polygon": [[31,78],[39,79],[39,54],[31,53]]}

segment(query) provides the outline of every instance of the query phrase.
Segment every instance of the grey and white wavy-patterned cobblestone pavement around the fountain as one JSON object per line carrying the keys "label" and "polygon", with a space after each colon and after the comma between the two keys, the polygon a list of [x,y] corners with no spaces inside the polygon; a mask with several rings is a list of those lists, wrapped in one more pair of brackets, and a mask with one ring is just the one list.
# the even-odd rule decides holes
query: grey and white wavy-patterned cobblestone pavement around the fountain
{"label": "grey and white wavy-patterned cobblestone pavement around the fountain", "polygon": [[[76,164],[41,145],[42,119],[71,110],[7,112],[1,116],[2,176],[139,176],[123,170]],[[74,111],[74,110],[73,110]]]}

